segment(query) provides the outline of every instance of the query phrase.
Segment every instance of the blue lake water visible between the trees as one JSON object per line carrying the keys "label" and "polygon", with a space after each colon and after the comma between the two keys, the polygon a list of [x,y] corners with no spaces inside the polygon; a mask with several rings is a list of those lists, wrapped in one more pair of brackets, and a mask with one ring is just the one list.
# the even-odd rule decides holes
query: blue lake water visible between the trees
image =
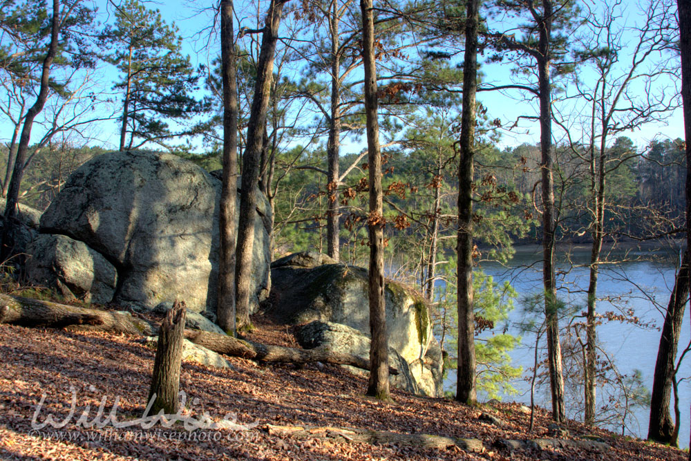
{"label": "blue lake water visible between the trees", "polygon": [[[667,306],[670,292],[674,286],[674,274],[679,261],[679,250],[659,250],[652,247],[632,247],[628,250],[618,250],[610,254],[612,260],[628,260],[623,263],[601,266],[598,279],[598,298],[610,297],[612,302],[598,301],[598,312],[617,310],[618,308],[630,308],[643,322],[654,322],[659,328],[664,321],[664,310]],[[567,256],[567,254],[569,256]],[[588,245],[580,247],[560,248],[558,252],[558,264],[556,269],[562,272],[558,275],[560,290],[558,297],[567,304],[578,307],[578,312],[585,311],[585,290],[588,286],[589,270],[585,265],[589,261],[590,250]],[[531,245],[519,247],[509,265],[499,263],[481,263],[480,267],[488,275],[494,277],[495,282],[508,280],[520,296],[539,293],[542,290],[542,263],[541,247]],[[538,261],[536,263],[536,261]],[[656,306],[656,303],[659,305]],[[524,314],[521,312],[520,303],[515,302],[516,308],[510,315],[509,332],[518,334],[515,323],[521,321]],[[660,305],[662,307],[660,307]],[[690,339],[690,323],[688,317],[690,310],[687,308],[684,325],[679,341],[679,350],[685,348]],[[562,321],[561,326],[565,322]],[[512,325],[513,324],[513,325]],[[543,335],[544,337],[544,335]],[[632,375],[634,370],[640,370],[643,384],[650,391],[652,389],[652,377],[654,373],[657,349],[660,341],[660,332],[657,328],[640,328],[619,321],[604,323],[598,327],[598,339],[603,349],[614,358],[616,367],[623,375]],[[529,368],[533,366],[535,336],[523,335],[523,346],[511,352],[514,366],[523,366],[524,377],[529,374]],[[544,344],[544,339],[541,339]],[[691,355],[691,354],[690,354]],[[680,377],[691,377],[691,359],[686,359],[680,368]],[[444,383],[446,390],[455,392],[455,371],[451,370]],[[504,395],[505,401],[516,401],[524,404],[530,403],[530,383],[526,379],[513,383],[520,391],[519,395]],[[578,390],[582,395],[582,387]],[[681,431],[679,433],[680,446],[689,445],[690,429],[690,404],[691,384],[688,381],[679,384]],[[480,400],[483,399],[479,395]],[[602,404],[603,393],[598,389],[598,406]],[[541,386],[536,392],[536,403],[544,408],[551,408],[549,403],[549,383]],[[582,411],[582,409],[581,409]],[[582,413],[574,413],[574,408],[568,408],[569,417],[582,420]],[[645,438],[647,435],[649,408],[634,407],[632,417],[627,422],[625,433],[636,437]],[[674,415],[672,415],[674,417]],[[621,425],[609,426],[621,433]]]}

